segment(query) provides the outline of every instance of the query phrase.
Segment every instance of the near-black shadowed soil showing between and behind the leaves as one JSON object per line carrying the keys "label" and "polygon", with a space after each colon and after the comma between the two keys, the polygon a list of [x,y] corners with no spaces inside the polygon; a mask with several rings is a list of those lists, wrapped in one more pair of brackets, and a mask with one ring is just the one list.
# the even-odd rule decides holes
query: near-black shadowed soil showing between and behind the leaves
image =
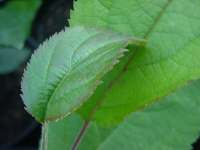
{"label": "near-black shadowed soil showing between and behind the leaves", "polygon": [[[7,1],[0,0],[0,7]],[[72,1],[43,0],[25,45],[34,51],[44,39],[68,26]],[[24,110],[20,97],[24,66],[0,76],[0,150],[36,150],[38,147],[40,125]],[[200,150],[200,139],[194,144],[194,150]]]}

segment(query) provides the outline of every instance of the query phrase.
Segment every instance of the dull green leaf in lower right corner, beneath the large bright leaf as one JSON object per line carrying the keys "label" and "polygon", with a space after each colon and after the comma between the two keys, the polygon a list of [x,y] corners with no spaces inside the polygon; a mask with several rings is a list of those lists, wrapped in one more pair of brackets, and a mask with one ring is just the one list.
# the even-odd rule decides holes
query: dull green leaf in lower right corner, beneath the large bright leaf
{"label": "dull green leaf in lower right corner, beneath the large bright leaf", "polygon": [[133,113],[98,149],[192,149],[200,133],[199,89],[200,82],[194,82],[144,112]]}

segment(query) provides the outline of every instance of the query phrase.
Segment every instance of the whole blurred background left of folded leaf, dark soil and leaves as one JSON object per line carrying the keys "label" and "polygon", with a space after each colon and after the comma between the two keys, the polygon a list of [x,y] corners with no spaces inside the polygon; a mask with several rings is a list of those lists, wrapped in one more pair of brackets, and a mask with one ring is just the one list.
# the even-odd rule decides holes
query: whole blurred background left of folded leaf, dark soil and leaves
{"label": "whole blurred background left of folded leaf, dark soil and leaves", "polygon": [[73,0],[0,0],[0,150],[38,149],[41,128],[24,110],[21,78],[38,45],[68,26],[72,8]]}

